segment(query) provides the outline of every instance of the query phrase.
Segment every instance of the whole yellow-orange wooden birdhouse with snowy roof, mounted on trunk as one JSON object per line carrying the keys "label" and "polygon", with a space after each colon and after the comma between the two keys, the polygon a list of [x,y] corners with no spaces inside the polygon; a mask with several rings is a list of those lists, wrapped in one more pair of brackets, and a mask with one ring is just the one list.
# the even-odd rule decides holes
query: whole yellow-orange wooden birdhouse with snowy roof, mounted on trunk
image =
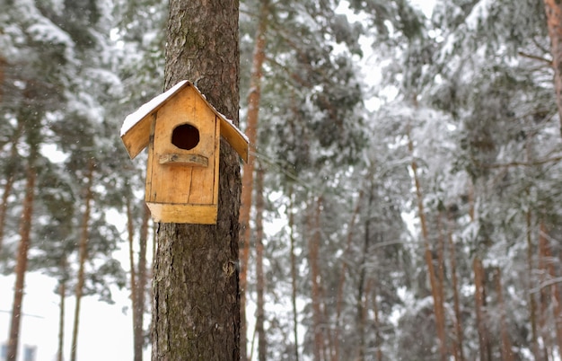
{"label": "whole yellow-orange wooden birdhouse with snowy roof, mounted on trunk", "polygon": [[156,222],[216,224],[220,137],[248,162],[248,139],[182,81],[127,116],[131,159],[148,146],[145,201]]}

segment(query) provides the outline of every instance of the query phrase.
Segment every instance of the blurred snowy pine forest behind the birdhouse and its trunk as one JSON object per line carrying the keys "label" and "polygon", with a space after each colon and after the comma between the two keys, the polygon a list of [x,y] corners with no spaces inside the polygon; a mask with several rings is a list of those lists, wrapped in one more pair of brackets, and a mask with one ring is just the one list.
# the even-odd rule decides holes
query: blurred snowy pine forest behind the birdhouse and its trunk
{"label": "blurred snowy pine forest behind the birdhouse and its trunk", "polygon": [[[154,230],[119,128],[162,92],[162,3],[0,1],[0,271],[29,242],[20,271],[57,280],[63,311],[131,290],[146,345]],[[249,359],[560,358],[549,3],[241,1],[242,129],[260,94]]]}

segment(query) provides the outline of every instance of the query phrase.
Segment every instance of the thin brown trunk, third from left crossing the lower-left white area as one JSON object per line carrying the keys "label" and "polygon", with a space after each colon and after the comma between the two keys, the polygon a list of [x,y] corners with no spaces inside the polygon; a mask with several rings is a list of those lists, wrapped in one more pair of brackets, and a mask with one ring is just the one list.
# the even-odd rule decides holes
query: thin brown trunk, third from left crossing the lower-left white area
{"label": "thin brown trunk, third from left crossing the lower-left white area", "polygon": [[85,209],[82,218],[82,234],[80,236],[80,242],[78,243],[78,253],[79,253],[79,265],[78,265],[78,276],[76,281],[76,305],[75,305],[75,322],[72,330],[72,344],[70,349],[70,360],[76,361],[76,348],[78,348],[78,324],[80,321],[80,304],[82,302],[83,284],[84,284],[84,266],[86,260],[88,260],[88,239],[90,237],[90,229],[88,223],[90,222],[90,212],[91,203],[93,198],[92,193],[92,179],[93,179],[93,168],[95,166],[95,161],[90,159],[88,162],[88,172],[86,175],[86,189],[84,195]]}

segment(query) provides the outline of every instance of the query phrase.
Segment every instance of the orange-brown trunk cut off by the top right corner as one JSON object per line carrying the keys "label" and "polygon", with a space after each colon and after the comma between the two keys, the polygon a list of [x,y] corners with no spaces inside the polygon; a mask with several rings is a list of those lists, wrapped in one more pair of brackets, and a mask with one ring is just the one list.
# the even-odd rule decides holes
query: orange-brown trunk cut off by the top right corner
{"label": "orange-brown trunk cut off by the top right corner", "polygon": [[558,106],[560,132],[562,133],[562,4],[558,0],[544,0],[547,27],[550,37],[550,52],[554,68],[554,89]]}

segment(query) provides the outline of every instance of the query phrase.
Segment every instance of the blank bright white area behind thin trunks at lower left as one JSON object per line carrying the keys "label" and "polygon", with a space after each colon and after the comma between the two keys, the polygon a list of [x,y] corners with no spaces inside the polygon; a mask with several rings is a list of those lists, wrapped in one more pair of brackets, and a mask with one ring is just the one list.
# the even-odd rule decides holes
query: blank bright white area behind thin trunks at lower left
{"label": "blank bright white area behind thin trunks at lower left", "polygon": [[[0,340],[6,342],[12,313],[15,277],[0,276]],[[23,345],[37,347],[36,361],[54,361],[57,357],[59,299],[53,292],[57,281],[36,272],[26,275],[20,351]],[[6,292],[6,291],[10,292]],[[116,291],[116,304],[98,301],[97,296],[83,297],[76,356],[80,361],[120,361],[133,359],[132,315],[128,291]],[[124,313],[127,308],[127,313]],[[70,342],[75,313],[75,297],[66,297],[65,359],[70,358]],[[145,359],[150,359],[148,351]]]}

